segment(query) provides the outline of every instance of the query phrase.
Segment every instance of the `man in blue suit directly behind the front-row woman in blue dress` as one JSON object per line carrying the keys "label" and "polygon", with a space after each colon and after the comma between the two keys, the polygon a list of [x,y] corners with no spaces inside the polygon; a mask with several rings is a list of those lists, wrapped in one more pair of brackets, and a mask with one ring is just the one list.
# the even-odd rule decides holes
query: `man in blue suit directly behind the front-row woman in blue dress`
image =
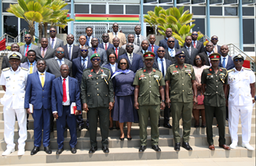
{"label": "man in blue suit directly behind the front-row woman in blue dress", "polygon": [[140,55],[133,53],[133,43],[128,43],[126,45],[126,53],[119,56],[119,60],[125,58],[129,62],[129,69],[136,73],[137,70],[144,67],[143,60]]}

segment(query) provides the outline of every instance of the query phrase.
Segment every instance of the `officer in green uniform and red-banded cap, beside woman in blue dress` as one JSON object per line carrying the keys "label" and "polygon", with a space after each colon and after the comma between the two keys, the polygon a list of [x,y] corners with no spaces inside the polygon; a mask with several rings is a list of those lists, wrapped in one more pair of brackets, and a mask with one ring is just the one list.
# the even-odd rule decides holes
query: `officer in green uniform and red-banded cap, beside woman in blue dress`
{"label": "officer in green uniform and red-banded cap, beside woman in blue dress", "polygon": [[[159,141],[159,114],[164,110],[164,78],[160,70],[153,68],[155,60],[154,52],[144,53],[145,68],[137,70],[133,85],[134,90],[134,107],[138,110],[140,120],[140,139],[141,147],[139,152],[144,152],[147,148],[147,124],[148,116],[151,122],[151,139],[152,149],[160,152]],[[160,96],[162,101],[160,101]]]}

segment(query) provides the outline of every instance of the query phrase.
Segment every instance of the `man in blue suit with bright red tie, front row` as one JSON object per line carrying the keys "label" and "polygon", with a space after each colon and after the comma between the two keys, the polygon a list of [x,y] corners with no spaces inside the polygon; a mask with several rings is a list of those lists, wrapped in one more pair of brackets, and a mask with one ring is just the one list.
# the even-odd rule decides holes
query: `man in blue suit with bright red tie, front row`
{"label": "man in blue suit with bright red tie, front row", "polygon": [[[54,79],[52,86],[52,111],[53,117],[57,121],[58,150],[56,154],[60,154],[64,150],[66,123],[68,124],[71,137],[69,142],[71,153],[76,153],[77,133],[75,115],[79,115],[79,112],[82,111],[79,81],[68,77],[69,67],[67,64],[60,66],[60,73],[61,77]],[[74,106],[76,106],[76,109]]]}

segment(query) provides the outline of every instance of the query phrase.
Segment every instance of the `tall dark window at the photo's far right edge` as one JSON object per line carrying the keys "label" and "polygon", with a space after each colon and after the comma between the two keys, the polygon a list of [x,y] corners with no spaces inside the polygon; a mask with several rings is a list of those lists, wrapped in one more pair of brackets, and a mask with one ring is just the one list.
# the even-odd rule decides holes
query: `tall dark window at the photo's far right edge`
{"label": "tall dark window at the photo's far right edge", "polygon": [[243,19],[243,44],[255,44],[255,19]]}

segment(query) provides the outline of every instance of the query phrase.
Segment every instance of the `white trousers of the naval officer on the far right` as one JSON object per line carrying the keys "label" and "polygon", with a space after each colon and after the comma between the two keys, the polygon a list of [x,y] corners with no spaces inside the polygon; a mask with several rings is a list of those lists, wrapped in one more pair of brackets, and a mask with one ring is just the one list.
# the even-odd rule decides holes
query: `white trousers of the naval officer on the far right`
{"label": "white trousers of the naval officer on the far right", "polygon": [[247,144],[251,139],[251,114],[253,104],[247,106],[234,106],[229,104],[229,133],[232,143],[238,143],[238,124],[241,117],[242,143]]}

